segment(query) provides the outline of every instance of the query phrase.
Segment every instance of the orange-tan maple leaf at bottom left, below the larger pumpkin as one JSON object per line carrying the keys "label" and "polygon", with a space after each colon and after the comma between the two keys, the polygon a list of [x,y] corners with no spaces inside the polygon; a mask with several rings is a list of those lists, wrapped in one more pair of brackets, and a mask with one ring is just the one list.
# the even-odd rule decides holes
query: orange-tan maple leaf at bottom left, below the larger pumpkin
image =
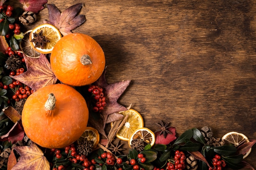
{"label": "orange-tan maple leaf at bottom left, below the larger pumpkin", "polygon": [[31,142],[30,146],[16,146],[13,148],[20,160],[11,170],[49,170],[50,164],[40,148]]}

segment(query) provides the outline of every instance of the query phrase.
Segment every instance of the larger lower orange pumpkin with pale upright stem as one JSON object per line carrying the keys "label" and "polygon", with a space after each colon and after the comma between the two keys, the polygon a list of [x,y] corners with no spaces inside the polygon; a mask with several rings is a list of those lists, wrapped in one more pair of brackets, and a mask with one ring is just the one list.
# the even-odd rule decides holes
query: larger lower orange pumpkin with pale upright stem
{"label": "larger lower orange pumpkin with pale upright stem", "polygon": [[26,100],[22,126],[26,135],[44,148],[63,148],[79,139],[88,123],[83,96],[65,84],[38,89]]}

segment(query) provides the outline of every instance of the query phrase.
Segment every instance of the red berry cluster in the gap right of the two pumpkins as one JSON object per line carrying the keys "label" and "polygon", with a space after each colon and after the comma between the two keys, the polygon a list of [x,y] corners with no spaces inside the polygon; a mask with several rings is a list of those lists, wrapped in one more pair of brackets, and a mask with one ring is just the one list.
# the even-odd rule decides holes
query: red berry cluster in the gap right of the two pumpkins
{"label": "red berry cluster in the gap right of the two pumpkins", "polygon": [[88,91],[92,93],[93,99],[96,101],[92,108],[94,112],[101,112],[107,106],[106,97],[104,97],[103,88],[91,85]]}

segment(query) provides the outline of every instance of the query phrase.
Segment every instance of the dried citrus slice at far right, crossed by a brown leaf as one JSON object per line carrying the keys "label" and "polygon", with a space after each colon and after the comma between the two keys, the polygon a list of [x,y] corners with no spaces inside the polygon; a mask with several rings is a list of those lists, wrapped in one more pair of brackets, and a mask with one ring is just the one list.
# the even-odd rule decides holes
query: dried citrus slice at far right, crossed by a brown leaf
{"label": "dried citrus slice at far right, crossed by a brown leaf", "polygon": [[[228,132],[222,137],[222,141],[224,141],[225,144],[232,144],[235,147],[238,147],[244,144],[245,142],[249,142],[249,139],[243,133]],[[245,159],[245,157],[247,157],[251,151],[252,148],[250,148],[248,152],[246,152],[243,158]]]}

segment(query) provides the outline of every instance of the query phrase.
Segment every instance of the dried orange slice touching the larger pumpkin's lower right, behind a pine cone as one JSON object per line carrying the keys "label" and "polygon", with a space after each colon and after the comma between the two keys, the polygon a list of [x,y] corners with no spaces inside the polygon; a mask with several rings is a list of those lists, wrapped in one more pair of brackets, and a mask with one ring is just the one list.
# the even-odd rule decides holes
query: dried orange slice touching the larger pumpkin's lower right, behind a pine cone
{"label": "dried orange slice touching the larger pumpkin's lower right, behind a pine cone", "polygon": [[92,127],[87,127],[85,131],[83,132],[83,135],[78,139],[78,142],[83,141],[93,141],[93,146],[92,148],[96,148],[97,145],[99,144],[99,132],[95,128]]}

